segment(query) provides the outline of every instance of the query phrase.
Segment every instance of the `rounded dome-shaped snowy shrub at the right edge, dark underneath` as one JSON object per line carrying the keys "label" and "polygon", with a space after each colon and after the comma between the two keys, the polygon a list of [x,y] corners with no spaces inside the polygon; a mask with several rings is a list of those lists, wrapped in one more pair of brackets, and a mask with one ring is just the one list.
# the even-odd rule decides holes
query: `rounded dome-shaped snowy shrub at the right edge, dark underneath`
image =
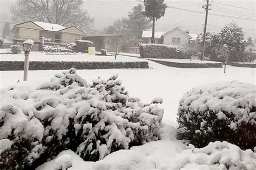
{"label": "rounded dome-shaped snowy shrub at the right edge, dark underneath", "polygon": [[228,141],[241,148],[256,144],[256,86],[239,81],[195,87],[179,101],[179,138],[196,147]]}

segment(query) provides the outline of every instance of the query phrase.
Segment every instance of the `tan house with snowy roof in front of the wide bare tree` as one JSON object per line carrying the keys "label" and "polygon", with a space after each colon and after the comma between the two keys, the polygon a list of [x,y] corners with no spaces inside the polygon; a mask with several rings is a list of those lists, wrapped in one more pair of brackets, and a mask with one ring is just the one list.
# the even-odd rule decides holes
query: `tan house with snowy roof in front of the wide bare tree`
{"label": "tan house with snowy roof in front of the wide bare tree", "polygon": [[22,45],[26,39],[34,40],[33,51],[38,51],[43,42],[48,44],[75,43],[76,40],[86,35],[76,26],[65,27],[59,24],[32,21],[14,25],[11,32],[15,34],[14,44]]}

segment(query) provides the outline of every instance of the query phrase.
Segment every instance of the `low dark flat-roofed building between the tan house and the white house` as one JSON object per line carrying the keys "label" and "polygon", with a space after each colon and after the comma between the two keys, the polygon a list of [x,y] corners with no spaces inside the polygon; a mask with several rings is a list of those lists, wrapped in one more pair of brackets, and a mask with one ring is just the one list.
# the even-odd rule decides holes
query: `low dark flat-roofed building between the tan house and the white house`
{"label": "low dark flat-roofed building between the tan house and the white house", "polygon": [[95,46],[96,51],[100,51],[101,49],[112,51],[108,43],[112,42],[115,39],[122,39],[122,37],[123,34],[95,34],[83,36],[82,39],[90,40],[93,43],[93,46]]}

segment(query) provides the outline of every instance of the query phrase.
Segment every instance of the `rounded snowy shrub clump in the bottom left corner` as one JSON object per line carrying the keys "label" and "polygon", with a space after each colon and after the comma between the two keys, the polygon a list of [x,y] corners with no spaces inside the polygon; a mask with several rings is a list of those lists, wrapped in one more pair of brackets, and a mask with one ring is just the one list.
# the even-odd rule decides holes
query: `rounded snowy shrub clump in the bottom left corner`
{"label": "rounded snowy shrub clump in the bottom left corner", "polygon": [[12,105],[1,107],[0,169],[25,168],[42,153],[44,127],[33,117],[34,111]]}

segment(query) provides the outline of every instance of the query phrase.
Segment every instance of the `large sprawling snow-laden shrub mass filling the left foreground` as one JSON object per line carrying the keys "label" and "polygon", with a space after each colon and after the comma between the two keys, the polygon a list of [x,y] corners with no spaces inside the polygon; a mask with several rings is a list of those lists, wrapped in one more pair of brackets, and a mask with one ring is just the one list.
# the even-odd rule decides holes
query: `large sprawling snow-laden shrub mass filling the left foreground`
{"label": "large sprawling snow-laden shrub mass filling the left foreground", "polygon": [[34,169],[64,149],[84,160],[158,140],[163,101],[129,97],[117,75],[91,85],[75,69],[56,74],[37,90],[2,94],[0,169]]}

